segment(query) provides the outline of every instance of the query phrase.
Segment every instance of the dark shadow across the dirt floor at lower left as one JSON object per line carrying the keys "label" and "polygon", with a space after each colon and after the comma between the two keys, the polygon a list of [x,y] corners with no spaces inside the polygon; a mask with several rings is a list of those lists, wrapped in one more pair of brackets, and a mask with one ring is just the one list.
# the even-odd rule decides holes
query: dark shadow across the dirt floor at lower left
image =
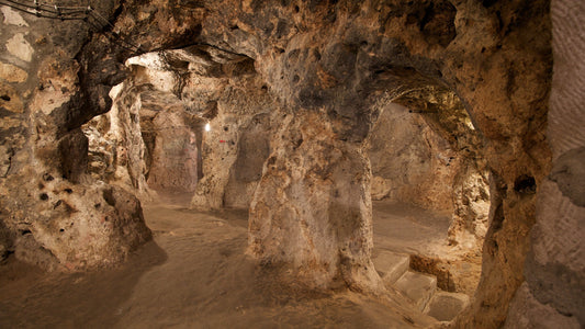
{"label": "dark shadow across the dirt floor at lower left", "polygon": [[165,263],[150,241],[127,263],[90,273],[47,273],[11,261],[0,271],[0,328],[111,328],[140,276]]}

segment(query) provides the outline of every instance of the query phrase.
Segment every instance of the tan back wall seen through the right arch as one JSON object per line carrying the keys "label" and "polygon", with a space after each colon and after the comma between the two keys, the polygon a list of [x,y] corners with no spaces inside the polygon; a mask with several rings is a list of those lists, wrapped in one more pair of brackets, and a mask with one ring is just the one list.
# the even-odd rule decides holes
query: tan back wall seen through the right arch
{"label": "tan back wall seen through the right arch", "polygon": [[452,211],[460,159],[420,114],[390,104],[371,134],[372,191],[425,208]]}

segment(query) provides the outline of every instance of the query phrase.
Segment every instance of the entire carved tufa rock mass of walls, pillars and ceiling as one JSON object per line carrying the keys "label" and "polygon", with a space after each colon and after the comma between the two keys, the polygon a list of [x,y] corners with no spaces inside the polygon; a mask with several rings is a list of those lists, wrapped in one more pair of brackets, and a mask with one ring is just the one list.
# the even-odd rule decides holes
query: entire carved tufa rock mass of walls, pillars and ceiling
{"label": "entire carved tufa rock mass of walls, pillars and ceiling", "polygon": [[485,239],[457,326],[533,325],[532,307],[585,324],[581,2],[93,5],[1,7],[2,257],[114,265],[150,238],[136,195],[172,189],[249,207],[259,263],[383,295],[373,193],[452,211],[453,245]]}

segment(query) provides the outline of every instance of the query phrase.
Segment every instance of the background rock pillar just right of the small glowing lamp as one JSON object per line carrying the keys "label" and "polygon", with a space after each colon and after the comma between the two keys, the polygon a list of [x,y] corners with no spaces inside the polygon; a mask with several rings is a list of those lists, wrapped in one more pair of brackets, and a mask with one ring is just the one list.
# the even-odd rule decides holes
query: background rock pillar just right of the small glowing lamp
{"label": "background rock pillar just right of the small glowing lamp", "polygon": [[[201,89],[205,84],[196,86],[199,79],[195,79],[185,88],[189,98],[198,94],[202,98]],[[216,81],[211,79],[212,83],[206,86],[217,86]],[[252,72],[224,79],[218,86],[214,94],[202,98],[205,102],[199,110],[200,113],[212,112],[213,116],[210,113],[211,131],[203,134],[203,178],[191,206],[198,209],[247,208],[269,156],[270,129],[274,129],[269,128],[271,116],[280,104]]]}

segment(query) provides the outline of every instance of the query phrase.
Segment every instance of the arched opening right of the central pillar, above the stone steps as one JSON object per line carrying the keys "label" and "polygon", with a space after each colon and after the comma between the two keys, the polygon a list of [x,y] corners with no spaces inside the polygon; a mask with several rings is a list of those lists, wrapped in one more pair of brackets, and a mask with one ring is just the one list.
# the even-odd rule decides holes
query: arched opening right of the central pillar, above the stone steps
{"label": "arched opening right of the central pillar, above the stone steps", "polygon": [[415,91],[380,105],[369,138],[372,259],[406,256],[409,268],[435,275],[439,288],[473,295],[487,230],[488,175],[479,132],[460,100],[441,92],[429,98]]}

